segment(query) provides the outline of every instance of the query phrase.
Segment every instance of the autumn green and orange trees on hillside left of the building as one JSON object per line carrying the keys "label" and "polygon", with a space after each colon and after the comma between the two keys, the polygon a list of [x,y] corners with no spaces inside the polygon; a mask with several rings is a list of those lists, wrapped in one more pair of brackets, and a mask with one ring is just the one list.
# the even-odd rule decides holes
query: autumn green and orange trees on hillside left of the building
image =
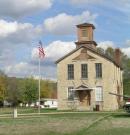
{"label": "autumn green and orange trees on hillside left of the building", "polygon": [[[56,82],[41,80],[41,98],[56,98]],[[19,103],[31,104],[38,100],[38,80],[30,78],[8,77],[0,71],[0,106],[3,101],[13,106]]]}

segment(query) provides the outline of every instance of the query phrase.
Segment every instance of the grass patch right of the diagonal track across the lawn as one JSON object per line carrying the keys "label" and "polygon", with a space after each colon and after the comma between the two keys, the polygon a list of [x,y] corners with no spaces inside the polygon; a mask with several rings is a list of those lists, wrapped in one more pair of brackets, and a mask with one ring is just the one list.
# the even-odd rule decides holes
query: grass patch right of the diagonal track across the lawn
{"label": "grass patch right of the diagonal track across the lawn", "polygon": [[[93,132],[95,131],[96,132]],[[129,135],[130,134],[130,114],[113,114],[106,119],[94,124],[88,131],[81,134],[87,135]]]}

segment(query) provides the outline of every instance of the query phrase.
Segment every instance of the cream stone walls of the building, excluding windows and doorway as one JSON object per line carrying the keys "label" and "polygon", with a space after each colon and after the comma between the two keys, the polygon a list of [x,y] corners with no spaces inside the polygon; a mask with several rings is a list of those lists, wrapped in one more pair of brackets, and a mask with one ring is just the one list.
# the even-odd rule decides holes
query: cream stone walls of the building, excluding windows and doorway
{"label": "cream stone walls of the building, excluding windows and doorway", "polygon": [[[58,109],[65,110],[70,109],[67,102],[67,91],[69,86],[74,88],[84,84],[89,87],[95,88],[96,86],[103,87],[103,102],[100,103],[100,110],[116,110],[118,109],[117,97],[112,96],[109,92],[116,92],[117,81],[121,86],[121,92],[123,93],[122,71],[116,67],[112,62],[105,58],[98,56],[87,50],[87,53],[95,59],[78,60],[73,59],[80,55],[83,48],[79,49],[75,53],[66,57],[64,60],[57,64],[57,77],[58,77]],[[96,78],[95,63],[102,63],[102,78]],[[74,64],[74,80],[68,80],[67,78],[67,65]],[[88,64],[88,79],[81,79],[81,64]],[[78,105],[77,105],[78,106]],[[95,106],[95,90],[91,91],[91,106],[86,107],[86,110],[93,110]],[[80,108],[80,106],[78,106]]]}

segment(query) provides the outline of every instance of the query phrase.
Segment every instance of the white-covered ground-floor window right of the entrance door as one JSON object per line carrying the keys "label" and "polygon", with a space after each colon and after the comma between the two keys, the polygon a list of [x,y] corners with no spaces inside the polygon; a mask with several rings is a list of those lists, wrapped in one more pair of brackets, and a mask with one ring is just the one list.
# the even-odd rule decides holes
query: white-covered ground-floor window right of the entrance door
{"label": "white-covered ground-floor window right of the entrance door", "polygon": [[96,101],[103,101],[103,88],[102,86],[97,86],[95,89]]}

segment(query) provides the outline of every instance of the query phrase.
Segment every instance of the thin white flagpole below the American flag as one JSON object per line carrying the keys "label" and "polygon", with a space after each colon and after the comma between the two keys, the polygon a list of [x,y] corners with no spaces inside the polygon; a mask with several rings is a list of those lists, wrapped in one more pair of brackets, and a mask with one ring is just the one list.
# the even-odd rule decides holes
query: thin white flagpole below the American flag
{"label": "thin white flagpole below the American flag", "polygon": [[38,83],[38,102],[39,102],[39,105],[38,105],[38,113],[40,114],[40,87],[41,85],[41,60],[40,60],[40,57],[39,57],[39,83]]}

